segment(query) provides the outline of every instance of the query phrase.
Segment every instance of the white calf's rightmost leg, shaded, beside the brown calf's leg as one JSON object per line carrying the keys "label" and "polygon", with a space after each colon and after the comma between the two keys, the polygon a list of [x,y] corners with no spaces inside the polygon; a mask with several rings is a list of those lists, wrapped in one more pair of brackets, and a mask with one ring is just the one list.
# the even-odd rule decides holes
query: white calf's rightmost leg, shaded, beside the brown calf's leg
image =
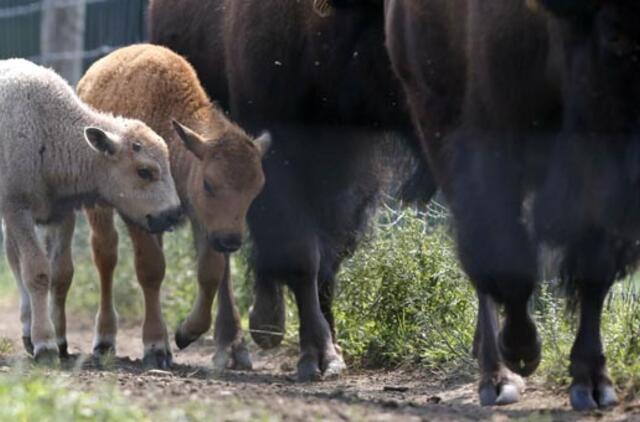
{"label": "white calf's rightmost leg, shaded, beside the brown calf's leg", "polygon": [[65,303],[73,280],[71,242],[75,223],[76,217],[72,212],[60,224],[47,226],[45,232],[45,245],[51,265],[51,319],[61,358],[69,357]]}

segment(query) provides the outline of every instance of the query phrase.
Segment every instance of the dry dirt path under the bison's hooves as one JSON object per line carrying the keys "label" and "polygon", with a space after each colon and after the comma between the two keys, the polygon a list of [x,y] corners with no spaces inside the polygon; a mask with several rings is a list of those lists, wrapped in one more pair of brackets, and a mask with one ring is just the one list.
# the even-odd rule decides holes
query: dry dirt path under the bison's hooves
{"label": "dry dirt path under the bison's hooves", "polygon": [[[91,327],[69,318],[72,353],[91,350]],[[17,306],[0,304],[0,335],[15,345],[5,364],[25,359],[20,344]],[[437,379],[412,370],[348,372],[338,380],[301,384],[294,381],[295,350],[253,350],[254,371],[214,374],[210,370],[213,344],[203,340],[175,351],[175,368],[142,368],[140,330],[122,329],[118,358],[108,368],[86,359],[81,369],[69,370],[83,390],[115,384],[126,397],[150,412],[182,406],[205,406],[208,420],[362,420],[362,421],[467,421],[467,420],[638,420],[640,402],[625,402],[614,410],[579,414],[568,406],[563,389],[554,390],[529,381],[521,403],[500,408],[477,404],[475,385],[467,381]]]}

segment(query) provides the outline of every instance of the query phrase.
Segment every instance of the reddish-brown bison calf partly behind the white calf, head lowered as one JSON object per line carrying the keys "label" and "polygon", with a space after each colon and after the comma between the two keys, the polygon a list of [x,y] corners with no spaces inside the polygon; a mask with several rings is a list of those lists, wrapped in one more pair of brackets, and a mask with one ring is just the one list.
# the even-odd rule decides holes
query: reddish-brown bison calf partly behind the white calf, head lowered
{"label": "reddish-brown bison calf partly behind the white calf, head lowered", "polygon": [[[163,47],[143,44],[115,51],[87,71],[78,93],[98,109],[145,121],[166,140],[171,173],[191,221],[198,256],[198,297],[176,334],[177,343],[185,347],[209,329],[211,305],[222,283],[214,362],[218,368],[229,363],[250,367],[229,286],[228,254],[240,248],[245,215],[264,184],[261,158],[269,137],[252,140],[227,120],[186,60]],[[91,208],[87,215],[102,287],[94,354],[102,355],[115,351],[117,317],[111,286],[118,234],[111,208]],[[166,368],[171,365],[171,349],[160,309],[165,273],[162,238],[130,224],[127,228],[145,298],[144,363]]]}

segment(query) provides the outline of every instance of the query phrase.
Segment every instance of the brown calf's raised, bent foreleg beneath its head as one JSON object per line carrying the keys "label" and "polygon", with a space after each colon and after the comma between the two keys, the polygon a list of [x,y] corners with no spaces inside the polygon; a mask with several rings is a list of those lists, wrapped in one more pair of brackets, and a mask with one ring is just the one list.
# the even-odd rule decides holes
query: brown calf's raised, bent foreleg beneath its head
{"label": "brown calf's raised, bent foreleg beneath its head", "polygon": [[211,327],[211,306],[225,273],[225,257],[209,247],[204,230],[193,226],[198,249],[198,293],[189,316],[176,330],[176,345],[184,349]]}

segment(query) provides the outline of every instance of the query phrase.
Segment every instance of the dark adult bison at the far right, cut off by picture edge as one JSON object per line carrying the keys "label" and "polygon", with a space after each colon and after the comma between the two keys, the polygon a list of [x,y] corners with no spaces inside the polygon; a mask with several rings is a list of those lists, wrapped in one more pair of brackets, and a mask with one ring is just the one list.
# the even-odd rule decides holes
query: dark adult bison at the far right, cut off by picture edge
{"label": "dark adult bison at the far right, cut off by picture edge", "polygon": [[394,69],[478,292],[481,403],[517,401],[519,375],[539,363],[527,302],[547,242],[561,248],[579,304],[571,404],[615,404],[600,318],[611,284],[638,258],[640,4],[388,0],[385,16]]}

